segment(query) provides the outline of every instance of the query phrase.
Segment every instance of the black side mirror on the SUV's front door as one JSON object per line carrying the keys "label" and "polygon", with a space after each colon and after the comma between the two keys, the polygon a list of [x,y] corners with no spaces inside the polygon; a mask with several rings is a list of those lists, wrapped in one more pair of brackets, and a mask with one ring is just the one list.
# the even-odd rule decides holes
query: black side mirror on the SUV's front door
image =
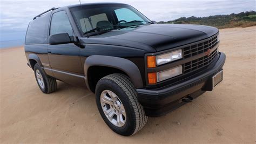
{"label": "black side mirror on the SUV's front door", "polygon": [[57,44],[68,44],[71,43],[71,39],[68,33],[58,33],[55,35],[51,35],[49,37],[49,44],[50,45],[57,45]]}

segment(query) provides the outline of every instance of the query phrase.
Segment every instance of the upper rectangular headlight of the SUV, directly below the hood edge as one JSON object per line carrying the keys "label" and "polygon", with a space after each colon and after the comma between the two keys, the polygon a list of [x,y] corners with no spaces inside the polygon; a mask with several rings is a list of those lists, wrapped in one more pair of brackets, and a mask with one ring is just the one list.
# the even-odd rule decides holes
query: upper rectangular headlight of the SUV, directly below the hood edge
{"label": "upper rectangular headlight of the SUV, directly below the hood edge", "polygon": [[176,50],[156,56],[157,65],[162,65],[182,58],[182,50]]}

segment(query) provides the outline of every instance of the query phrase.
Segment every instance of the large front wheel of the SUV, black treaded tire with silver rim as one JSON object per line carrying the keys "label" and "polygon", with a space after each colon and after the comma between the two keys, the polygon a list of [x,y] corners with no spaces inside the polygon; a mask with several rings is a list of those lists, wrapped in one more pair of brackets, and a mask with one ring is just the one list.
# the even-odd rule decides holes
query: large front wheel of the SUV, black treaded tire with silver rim
{"label": "large front wheel of the SUV, black treaded tire with silver rim", "polygon": [[[110,97],[110,95],[112,96]],[[105,102],[107,97],[108,100],[111,100],[111,103],[110,101]],[[117,99],[117,103],[116,101],[113,103],[113,99]],[[147,122],[147,116],[145,115],[144,109],[138,102],[136,89],[130,79],[124,74],[110,74],[98,81],[96,85],[96,103],[99,113],[107,126],[120,135],[133,135],[142,129]],[[108,104],[109,106],[107,106]],[[110,113],[109,111],[116,113],[114,110],[118,110],[118,108],[115,109],[115,106],[112,108],[112,104],[120,104],[119,106],[121,107],[121,110],[120,112],[117,112],[116,116],[108,116],[109,118],[107,118],[107,114]],[[122,108],[125,110],[124,113]],[[121,111],[122,114],[120,114]],[[121,116],[118,117],[117,115]],[[115,118],[120,122],[115,123]],[[111,119],[113,120],[111,121]]]}

